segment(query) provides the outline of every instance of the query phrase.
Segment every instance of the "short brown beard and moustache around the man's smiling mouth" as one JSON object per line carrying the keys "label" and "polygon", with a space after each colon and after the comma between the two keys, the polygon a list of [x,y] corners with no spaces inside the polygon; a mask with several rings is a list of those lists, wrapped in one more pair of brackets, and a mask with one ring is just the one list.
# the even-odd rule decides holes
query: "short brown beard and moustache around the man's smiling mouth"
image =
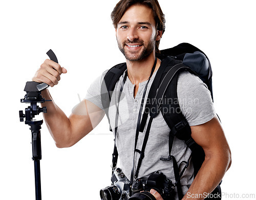
{"label": "short brown beard and moustache around the man's smiling mouth", "polygon": [[[122,52],[122,54],[124,55],[126,60],[140,61],[140,60],[143,60],[143,59],[147,58],[148,56],[150,56],[151,53],[154,51],[155,46],[156,46],[156,37],[157,37],[157,35],[152,40],[150,40],[150,42],[148,42],[148,45],[147,45],[146,48],[144,46],[144,41],[140,40],[140,39],[134,39],[132,41],[127,39],[122,44],[120,42],[118,42],[118,40],[117,40],[117,44],[118,44],[119,50]],[[143,44],[142,45],[143,46],[143,51],[138,55],[138,57],[128,55],[124,50],[124,47],[125,47],[126,43],[130,43],[130,44],[132,44],[132,43],[141,43],[141,44]],[[132,54],[133,54],[133,52],[132,52]]]}

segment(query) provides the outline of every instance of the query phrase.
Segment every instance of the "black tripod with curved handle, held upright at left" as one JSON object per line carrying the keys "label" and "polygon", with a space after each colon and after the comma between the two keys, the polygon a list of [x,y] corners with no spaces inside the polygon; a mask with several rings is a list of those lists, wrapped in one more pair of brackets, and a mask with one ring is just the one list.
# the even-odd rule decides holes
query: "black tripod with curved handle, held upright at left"
{"label": "black tripod with curved handle, held upright at left", "polygon": [[[55,54],[52,50],[47,52],[47,55],[51,60],[58,62]],[[36,121],[33,118],[39,113],[47,113],[47,107],[39,107],[37,103],[44,103],[45,100],[41,96],[41,91],[45,90],[49,85],[46,83],[37,83],[30,81],[26,83],[24,91],[27,92],[24,99],[20,99],[22,103],[30,103],[30,106],[25,109],[25,114],[23,110],[19,110],[19,120],[21,122],[25,120],[25,124],[30,126],[32,133],[32,160],[34,161],[34,171],[35,171],[35,196],[36,200],[41,200],[41,177],[40,177],[40,160],[42,158],[41,154],[41,134],[40,129],[42,125],[42,120]],[[50,100],[51,101],[51,100]]]}

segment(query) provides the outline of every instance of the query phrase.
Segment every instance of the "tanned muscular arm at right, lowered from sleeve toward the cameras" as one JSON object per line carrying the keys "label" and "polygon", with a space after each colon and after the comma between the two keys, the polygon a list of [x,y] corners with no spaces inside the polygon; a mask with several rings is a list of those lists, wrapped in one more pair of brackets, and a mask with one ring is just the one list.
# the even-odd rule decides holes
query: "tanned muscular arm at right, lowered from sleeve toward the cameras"
{"label": "tanned muscular arm at right, lowered from sleeve toward the cameras", "polygon": [[191,132],[195,142],[204,149],[205,161],[182,200],[203,199],[195,198],[195,194],[203,196],[212,192],[231,165],[231,152],[217,116],[205,124],[191,126]]}

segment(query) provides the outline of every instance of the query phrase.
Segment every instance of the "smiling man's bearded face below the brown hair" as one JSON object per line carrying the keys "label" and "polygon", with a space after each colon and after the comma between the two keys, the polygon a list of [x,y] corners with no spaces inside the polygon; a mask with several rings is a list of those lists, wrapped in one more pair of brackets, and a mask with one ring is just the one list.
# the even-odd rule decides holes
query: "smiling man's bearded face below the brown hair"
{"label": "smiling man's bearded face below the brown hair", "polygon": [[118,47],[127,60],[143,60],[155,52],[156,39],[160,39],[157,33],[152,9],[133,5],[117,25]]}

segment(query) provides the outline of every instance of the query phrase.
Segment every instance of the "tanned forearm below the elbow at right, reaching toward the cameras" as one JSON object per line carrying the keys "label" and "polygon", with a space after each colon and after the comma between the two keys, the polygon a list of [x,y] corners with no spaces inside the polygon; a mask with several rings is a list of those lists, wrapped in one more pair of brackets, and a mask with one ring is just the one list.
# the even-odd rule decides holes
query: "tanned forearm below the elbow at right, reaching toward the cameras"
{"label": "tanned forearm below the elbow at right, reaching toward the cameras", "polygon": [[204,199],[221,182],[225,172],[231,163],[230,155],[211,156],[205,158],[205,161],[199,170],[195,180],[189,187],[182,200]]}

